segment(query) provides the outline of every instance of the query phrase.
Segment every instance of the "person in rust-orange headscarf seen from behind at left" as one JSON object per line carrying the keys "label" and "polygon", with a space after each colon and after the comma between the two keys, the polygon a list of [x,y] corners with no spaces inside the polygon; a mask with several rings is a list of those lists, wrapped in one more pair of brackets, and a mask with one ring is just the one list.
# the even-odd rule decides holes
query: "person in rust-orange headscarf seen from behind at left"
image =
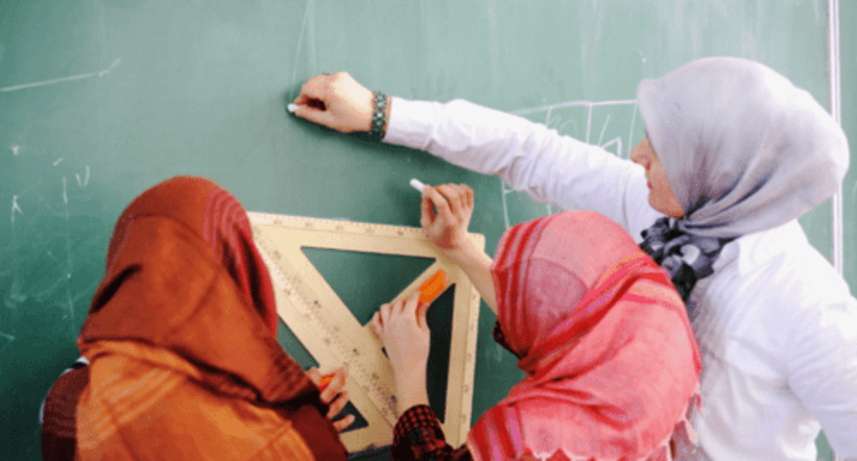
{"label": "person in rust-orange headscarf seen from behind at left", "polygon": [[[319,388],[277,343],[267,269],[240,203],[175,177],[118,219],[78,347],[45,403],[45,459],[346,459]],[[327,417],[326,417],[327,416]]]}

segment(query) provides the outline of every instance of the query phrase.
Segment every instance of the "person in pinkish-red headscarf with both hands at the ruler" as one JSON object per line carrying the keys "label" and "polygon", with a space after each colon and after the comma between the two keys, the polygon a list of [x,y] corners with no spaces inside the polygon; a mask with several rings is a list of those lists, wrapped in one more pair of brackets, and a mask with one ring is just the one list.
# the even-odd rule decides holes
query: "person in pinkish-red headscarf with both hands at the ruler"
{"label": "person in pinkish-red headscarf with both hands at the ruler", "polygon": [[701,363],[668,272],[595,212],[516,225],[492,261],[464,238],[472,210],[469,187],[427,186],[423,229],[494,309],[494,338],[526,376],[453,450],[425,396],[425,310],[417,296],[381,306],[372,324],[405,410],[393,459],[674,458]]}

